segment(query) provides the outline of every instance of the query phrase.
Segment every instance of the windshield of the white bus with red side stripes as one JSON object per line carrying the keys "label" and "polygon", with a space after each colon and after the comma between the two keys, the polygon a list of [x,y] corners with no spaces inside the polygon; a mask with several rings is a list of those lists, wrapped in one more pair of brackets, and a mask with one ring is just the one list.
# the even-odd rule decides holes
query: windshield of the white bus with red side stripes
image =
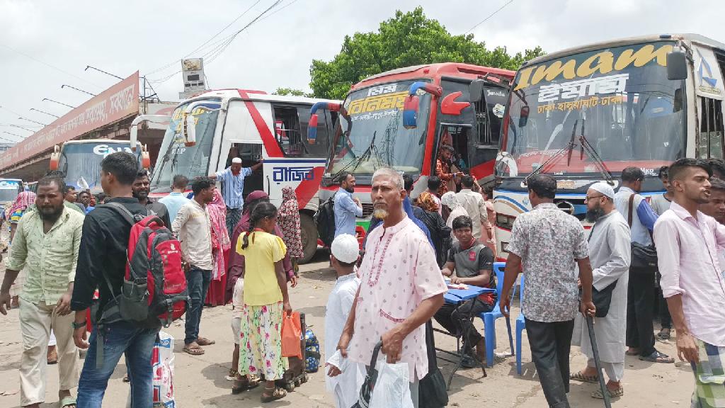
{"label": "windshield of the white bus with red side stripes", "polygon": [[183,137],[182,113],[186,109],[186,104],[179,105],[174,110],[154,168],[152,192],[170,192],[171,181],[176,174],[183,174],[189,180],[207,176],[221,104],[219,99],[215,99],[204,103],[203,107],[206,109],[198,107],[191,112],[196,122],[196,144],[188,147],[184,144]]}

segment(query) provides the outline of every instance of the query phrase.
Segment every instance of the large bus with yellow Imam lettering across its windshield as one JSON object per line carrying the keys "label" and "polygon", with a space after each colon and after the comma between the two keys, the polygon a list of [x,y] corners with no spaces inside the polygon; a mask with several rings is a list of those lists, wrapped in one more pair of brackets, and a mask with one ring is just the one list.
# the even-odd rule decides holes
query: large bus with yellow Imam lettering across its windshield
{"label": "large bus with yellow Imam lettering across its windshield", "polygon": [[585,228],[587,189],[642,168],[642,195],[662,194],[660,166],[723,158],[725,44],[665,34],[578,46],[526,62],[506,105],[494,208],[498,253],[529,211],[526,178],[557,180],[555,203]]}

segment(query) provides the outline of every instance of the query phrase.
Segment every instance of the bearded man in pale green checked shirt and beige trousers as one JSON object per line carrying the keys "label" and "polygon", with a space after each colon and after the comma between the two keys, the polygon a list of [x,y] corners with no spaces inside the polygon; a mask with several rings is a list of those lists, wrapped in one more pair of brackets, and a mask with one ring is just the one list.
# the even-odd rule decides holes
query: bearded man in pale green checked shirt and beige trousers
{"label": "bearded man in pale green checked shirt and beige trousers", "polygon": [[38,181],[36,209],[20,219],[0,287],[0,313],[7,314],[9,288],[25,268],[20,294],[20,405],[45,401],[46,348],[51,327],[59,352],[60,407],[75,407],[70,388],[78,385],[78,349],[72,338],[70,297],[78,262],[83,215],[63,204],[65,182],[57,176]]}

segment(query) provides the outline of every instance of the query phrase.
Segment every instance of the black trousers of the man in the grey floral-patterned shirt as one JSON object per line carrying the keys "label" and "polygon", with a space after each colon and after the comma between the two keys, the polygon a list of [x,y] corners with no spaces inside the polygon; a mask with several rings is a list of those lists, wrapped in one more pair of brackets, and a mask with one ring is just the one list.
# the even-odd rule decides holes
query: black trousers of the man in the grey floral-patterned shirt
{"label": "black trousers of the man in the grey floral-patterned shirt", "polygon": [[569,349],[574,321],[534,322],[526,319],[531,359],[537,367],[544,396],[553,408],[569,408]]}

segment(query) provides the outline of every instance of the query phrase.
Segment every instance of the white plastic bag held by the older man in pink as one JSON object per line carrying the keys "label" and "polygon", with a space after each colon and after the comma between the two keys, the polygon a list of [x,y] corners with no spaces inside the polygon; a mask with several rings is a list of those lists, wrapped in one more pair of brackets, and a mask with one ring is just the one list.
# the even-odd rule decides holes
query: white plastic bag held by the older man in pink
{"label": "white plastic bag held by the older man in pink", "polygon": [[378,380],[370,398],[370,408],[413,408],[410,396],[410,372],[407,363],[376,363]]}

